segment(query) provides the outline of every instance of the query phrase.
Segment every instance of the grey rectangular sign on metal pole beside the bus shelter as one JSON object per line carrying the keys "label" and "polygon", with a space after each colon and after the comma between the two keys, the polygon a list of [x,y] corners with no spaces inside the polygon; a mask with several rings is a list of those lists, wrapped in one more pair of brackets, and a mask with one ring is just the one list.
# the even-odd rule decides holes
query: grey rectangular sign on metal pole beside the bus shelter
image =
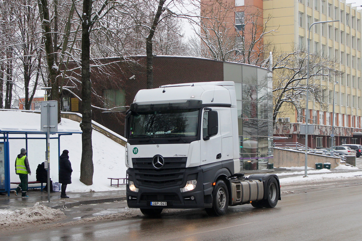
{"label": "grey rectangular sign on metal pole beside the bus shelter", "polygon": [[41,131],[46,131],[46,155],[44,168],[47,169],[48,202],[50,202],[50,131],[58,132],[58,102],[41,102]]}

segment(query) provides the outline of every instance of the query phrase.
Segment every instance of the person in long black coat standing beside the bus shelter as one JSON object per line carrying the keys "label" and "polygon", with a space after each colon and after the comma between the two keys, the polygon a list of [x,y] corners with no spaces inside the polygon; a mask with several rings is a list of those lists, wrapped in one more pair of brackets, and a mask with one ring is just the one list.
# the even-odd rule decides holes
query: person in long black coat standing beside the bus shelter
{"label": "person in long black coat standing beside the bus shelter", "polygon": [[67,184],[72,183],[71,175],[73,170],[68,154],[69,151],[64,150],[62,155],[60,155],[59,157],[59,183],[62,184],[60,188],[62,191],[60,193],[61,198],[69,198],[66,194],[66,189],[67,189]]}

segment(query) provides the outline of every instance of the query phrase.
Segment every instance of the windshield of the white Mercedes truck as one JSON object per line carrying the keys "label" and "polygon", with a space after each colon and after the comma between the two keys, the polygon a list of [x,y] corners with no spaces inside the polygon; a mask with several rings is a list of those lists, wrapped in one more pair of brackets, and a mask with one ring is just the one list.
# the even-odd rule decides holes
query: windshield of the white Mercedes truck
{"label": "windshield of the white Mercedes truck", "polygon": [[198,116],[199,109],[134,113],[129,138],[196,137]]}

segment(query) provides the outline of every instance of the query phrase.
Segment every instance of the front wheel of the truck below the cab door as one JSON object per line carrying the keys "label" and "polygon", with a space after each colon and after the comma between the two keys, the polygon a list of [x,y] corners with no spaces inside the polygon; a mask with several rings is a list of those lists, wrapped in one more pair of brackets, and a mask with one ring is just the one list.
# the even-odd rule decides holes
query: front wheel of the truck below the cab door
{"label": "front wheel of the truck below the cab door", "polygon": [[229,206],[229,192],[223,180],[216,182],[212,191],[212,207],[205,208],[210,216],[222,216]]}

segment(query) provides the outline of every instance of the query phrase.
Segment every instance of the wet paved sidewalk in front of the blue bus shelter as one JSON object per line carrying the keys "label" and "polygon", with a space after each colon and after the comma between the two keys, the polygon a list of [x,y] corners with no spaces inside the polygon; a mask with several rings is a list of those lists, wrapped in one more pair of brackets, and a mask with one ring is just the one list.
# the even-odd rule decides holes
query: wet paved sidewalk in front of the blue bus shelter
{"label": "wet paved sidewalk in front of the blue bus shelter", "polygon": [[46,191],[40,191],[40,189],[29,189],[26,193],[29,196],[28,198],[22,198],[21,193],[19,196],[16,196],[14,191],[10,191],[10,197],[8,197],[8,195],[0,195],[0,209],[14,211],[24,207],[33,207],[37,202],[41,205],[57,209],[94,203],[122,201],[126,200],[126,190],[122,189],[88,193],[67,192],[70,198],[60,198],[59,191],[50,193],[50,202],[48,202],[48,193]]}

